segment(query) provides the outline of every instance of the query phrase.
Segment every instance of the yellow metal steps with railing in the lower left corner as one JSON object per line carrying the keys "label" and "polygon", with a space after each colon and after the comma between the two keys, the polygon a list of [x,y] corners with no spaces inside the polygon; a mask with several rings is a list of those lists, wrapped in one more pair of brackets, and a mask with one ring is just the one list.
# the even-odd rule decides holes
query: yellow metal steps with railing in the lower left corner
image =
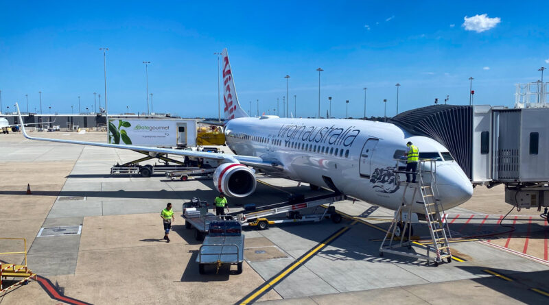
{"label": "yellow metal steps with railing in the lower left corner", "polygon": [[[8,264],[0,260],[0,293],[5,293],[19,285],[25,285],[31,279],[36,280],[36,274],[32,273],[27,267],[27,240],[15,238],[0,238],[0,240],[22,240],[25,247],[25,251],[23,252],[0,253],[0,255],[25,254],[24,265]],[[10,280],[10,284],[6,286],[5,281],[8,278],[14,278],[16,280]]]}

